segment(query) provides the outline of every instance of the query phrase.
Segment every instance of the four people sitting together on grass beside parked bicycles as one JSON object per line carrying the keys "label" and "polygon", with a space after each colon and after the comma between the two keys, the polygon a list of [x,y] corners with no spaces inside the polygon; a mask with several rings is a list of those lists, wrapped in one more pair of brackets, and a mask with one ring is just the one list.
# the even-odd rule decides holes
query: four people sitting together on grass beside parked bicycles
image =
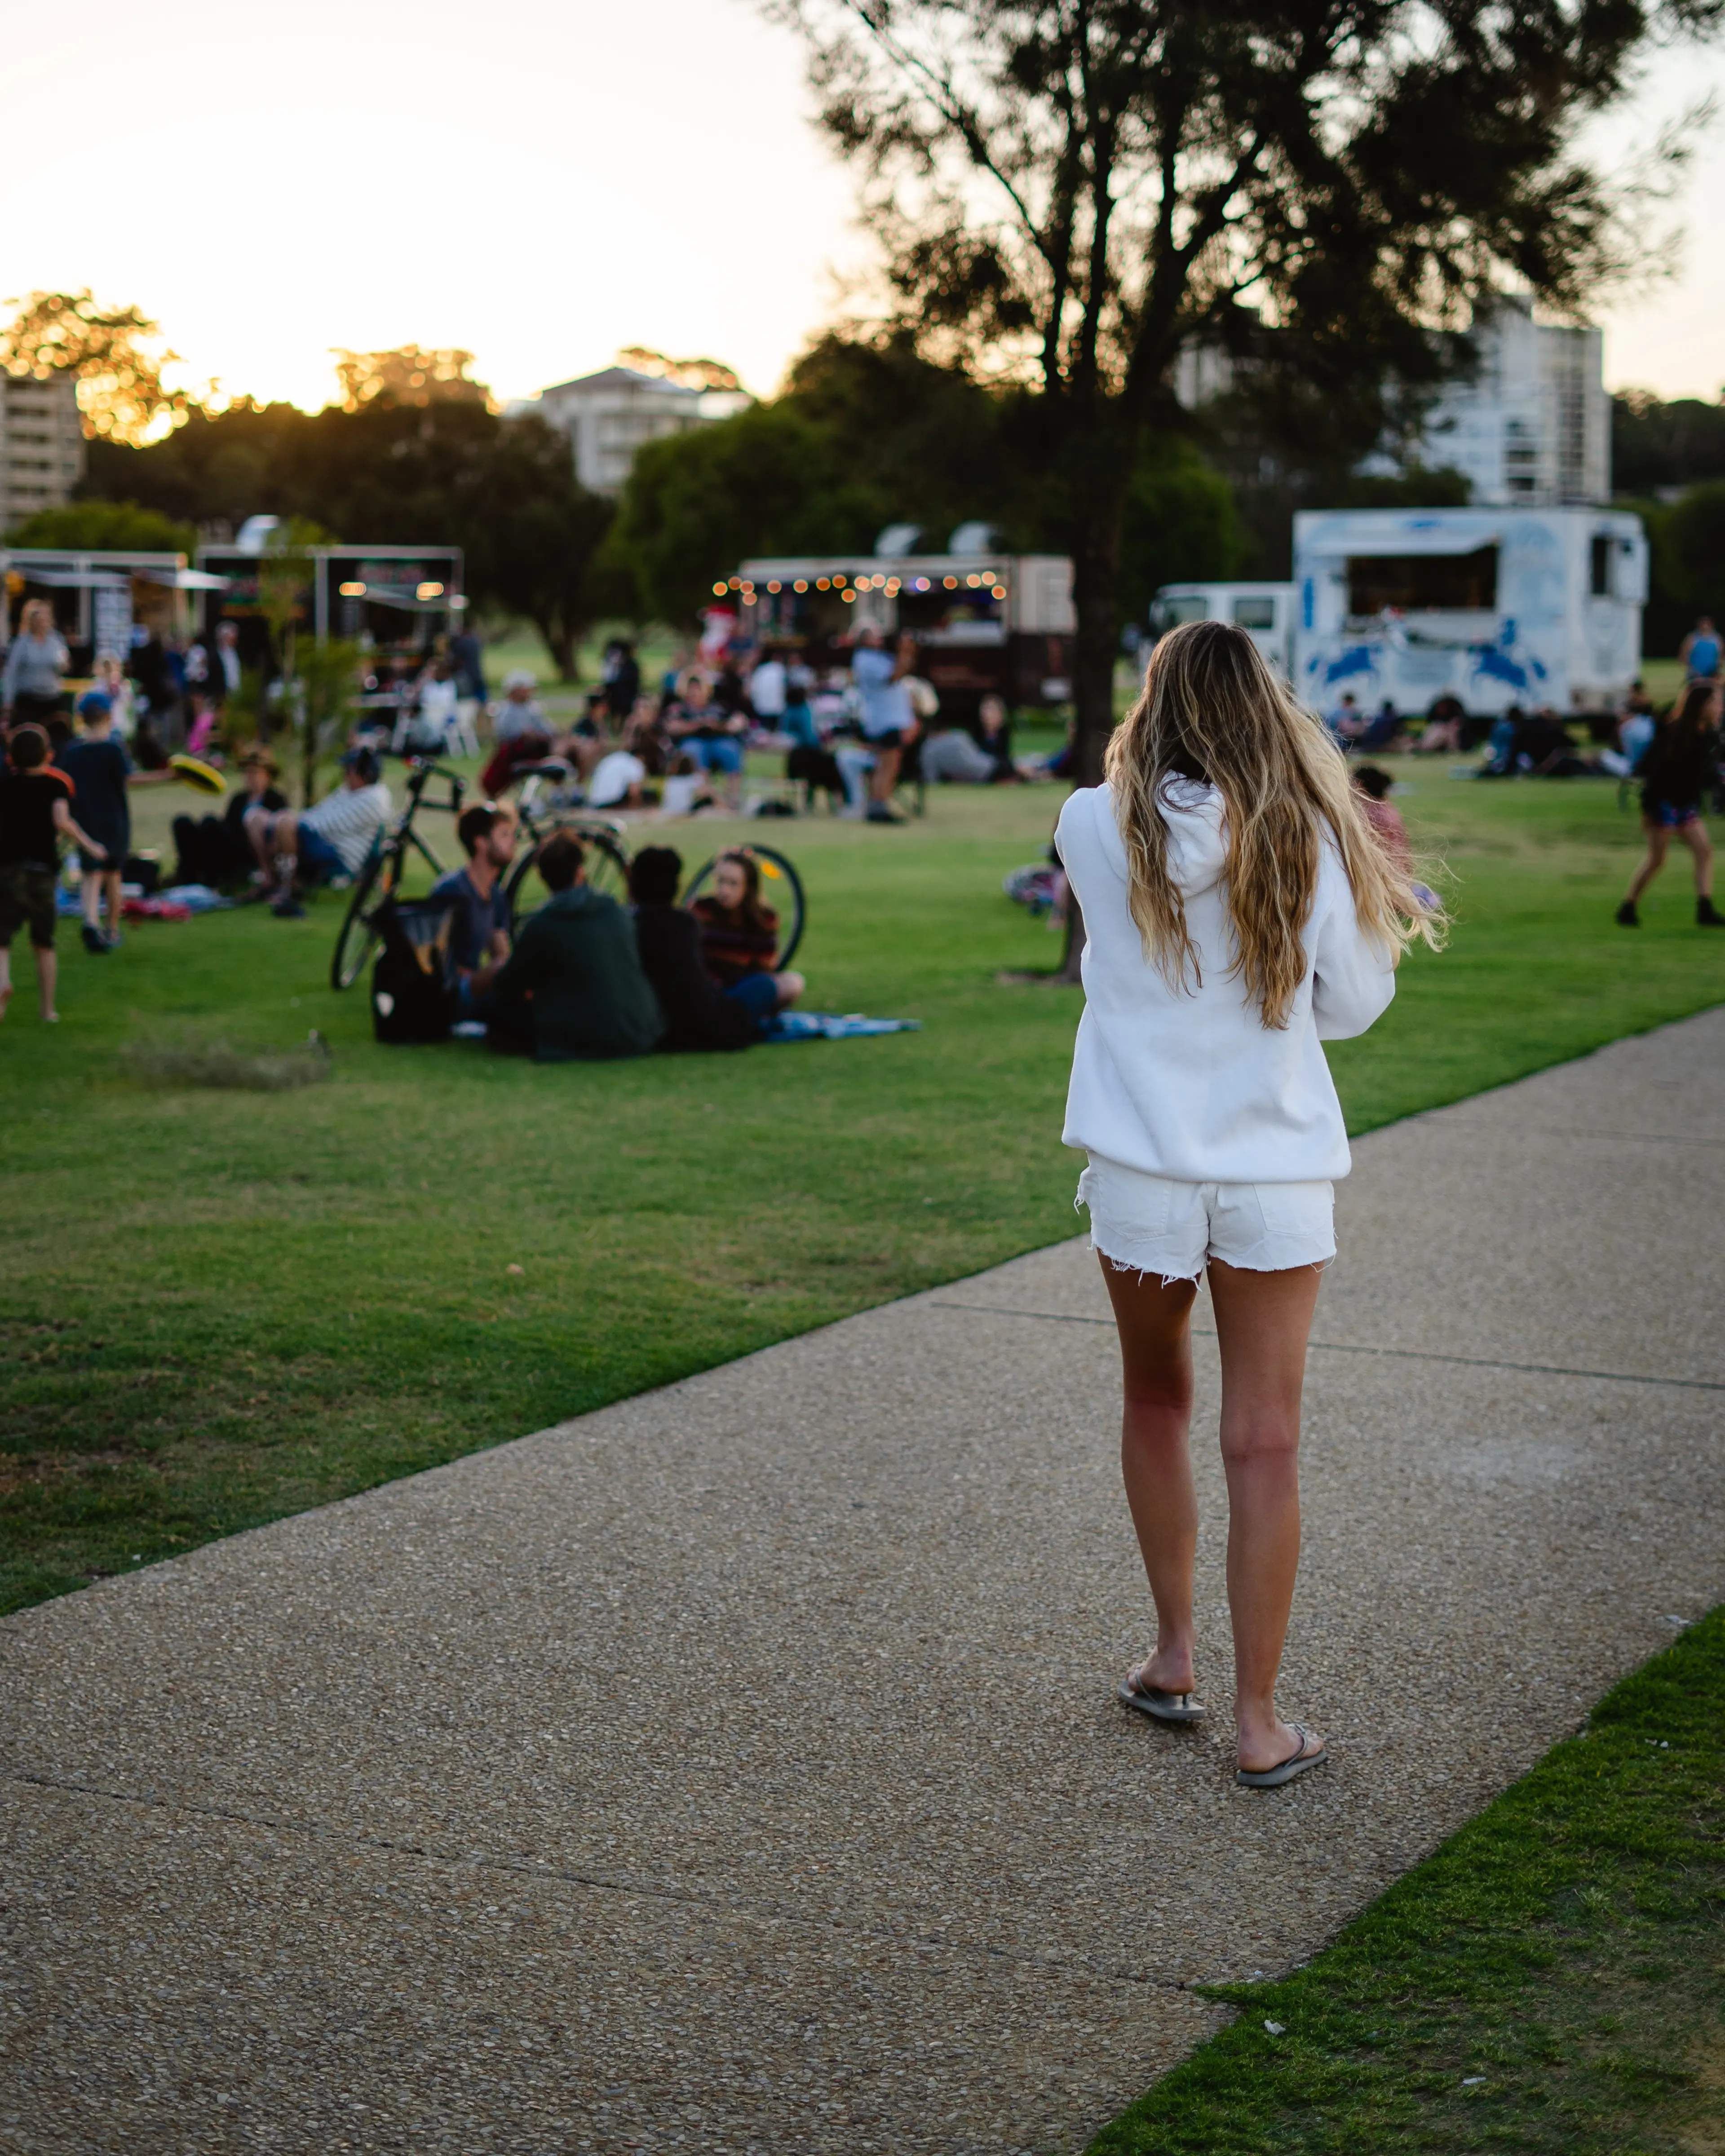
{"label": "four people sitting together on grass beside parked bicycles", "polygon": [[541,1063],[645,1056],[651,1050],[748,1048],[802,994],[774,966],[778,916],[761,901],[746,847],[720,854],[712,895],[677,906],[681,856],[643,847],[630,906],[586,882],[586,849],[554,832],[535,862],[548,890],[511,942],[505,880],[515,821],[492,804],[457,821],[468,865],[431,886],[455,912],[459,1009],[502,1052]]}

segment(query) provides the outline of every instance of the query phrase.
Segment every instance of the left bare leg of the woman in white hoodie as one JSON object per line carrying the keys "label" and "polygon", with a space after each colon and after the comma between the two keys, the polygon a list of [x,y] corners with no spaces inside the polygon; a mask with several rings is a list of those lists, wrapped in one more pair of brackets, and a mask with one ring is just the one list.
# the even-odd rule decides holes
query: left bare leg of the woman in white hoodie
{"label": "left bare leg of the woman in white hoodie", "polygon": [[1119,1326],[1126,1391],[1119,1464],[1156,1602],[1156,1654],[1138,1677],[1164,1692],[1190,1692],[1192,1563],[1199,1539],[1188,1447],[1197,1283],[1175,1281],[1164,1287],[1149,1274],[1117,1272],[1106,1257],[1102,1279]]}

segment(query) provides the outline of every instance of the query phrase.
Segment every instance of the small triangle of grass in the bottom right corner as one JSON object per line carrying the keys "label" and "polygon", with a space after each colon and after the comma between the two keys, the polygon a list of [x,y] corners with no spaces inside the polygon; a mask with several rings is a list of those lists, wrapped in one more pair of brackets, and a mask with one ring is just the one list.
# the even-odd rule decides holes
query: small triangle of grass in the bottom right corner
{"label": "small triangle of grass in the bottom right corner", "polygon": [[1723,1828],[1714,1611],[1091,2156],[1716,2156]]}

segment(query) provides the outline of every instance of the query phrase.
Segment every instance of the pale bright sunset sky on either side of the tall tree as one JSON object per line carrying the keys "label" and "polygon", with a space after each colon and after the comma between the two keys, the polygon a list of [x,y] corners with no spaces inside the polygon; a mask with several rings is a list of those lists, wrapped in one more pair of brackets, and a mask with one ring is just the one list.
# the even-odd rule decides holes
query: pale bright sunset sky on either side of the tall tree
{"label": "pale bright sunset sky on either side of the tall tree", "polygon": [[[1662,58],[1613,142],[1721,80],[1725,50]],[[0,298],[91,285],[155,315],[190,384],[308,407],[332,345],[466,345],[500,397],[651,345],[763,392],[865,254],[806,114],[798,45],[746,0],[37,6],[0,78]],[[1613,388],[1725,384],[1716,138],[1675,282],[1600,310]]]}

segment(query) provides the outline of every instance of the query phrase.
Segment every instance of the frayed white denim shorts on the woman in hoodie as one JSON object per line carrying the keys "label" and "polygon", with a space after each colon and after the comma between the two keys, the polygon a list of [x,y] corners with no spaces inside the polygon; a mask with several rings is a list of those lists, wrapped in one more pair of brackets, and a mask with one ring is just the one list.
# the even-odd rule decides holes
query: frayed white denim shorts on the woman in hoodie
{"label": "frayed white denim shorts on the woman in hoodie", "polygon": [[1335,1257],[1335,1184],[1177,1184],[1091,1160],[1076,1205],[1091,1248],[1121,1272],[1197,1281],[1218,1257],[1244,1272],[1292,1272]]}

